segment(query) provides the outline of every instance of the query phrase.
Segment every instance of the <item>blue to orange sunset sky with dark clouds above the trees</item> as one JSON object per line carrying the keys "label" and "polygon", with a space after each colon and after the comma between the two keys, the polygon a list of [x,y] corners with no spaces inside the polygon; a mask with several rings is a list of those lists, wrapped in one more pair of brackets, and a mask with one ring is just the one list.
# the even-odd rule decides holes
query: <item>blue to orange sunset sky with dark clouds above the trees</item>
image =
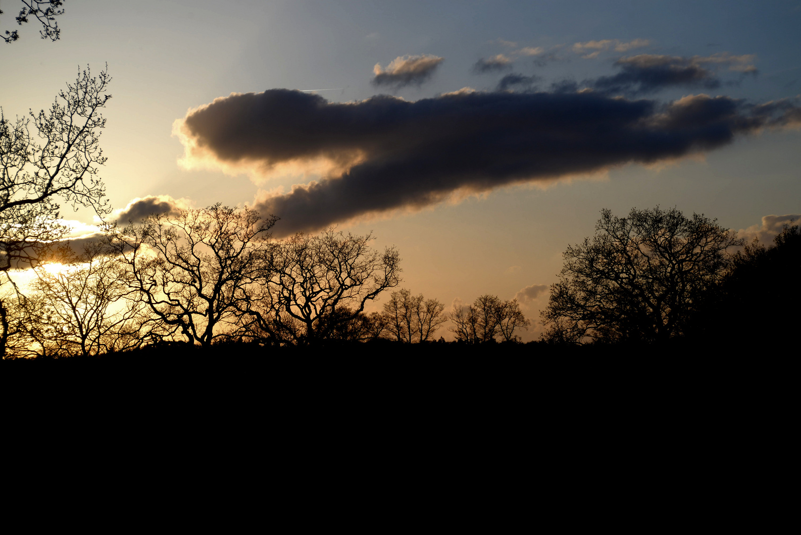
{"label": "blue to orange sunset sky with dark clouds above the trees", "polygon": [[413,294],[517,298],[524,340],[602,209],[766,241],[801,214],[801,1],[66,0],[54,43],[18,3],[3,113],[107,64],[112,217],[221,202],[279,236],[372,232]]}

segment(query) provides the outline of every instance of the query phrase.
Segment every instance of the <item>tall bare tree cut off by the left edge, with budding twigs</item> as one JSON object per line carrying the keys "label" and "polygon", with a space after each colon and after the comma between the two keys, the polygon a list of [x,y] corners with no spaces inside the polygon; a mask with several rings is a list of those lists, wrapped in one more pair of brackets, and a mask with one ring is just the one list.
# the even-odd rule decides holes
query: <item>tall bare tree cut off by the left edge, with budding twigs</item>
{"label": "tall bare tree cut off by the left edge, with budding twigs", "polygon": [[[48,111],[30,111],[30,117],[12,122],[0,108],[0,286],[13,284],[10,270],[37,265],[66,235],[68,229],[57,222],[59,201],[108,213],[99,177],[106,158],[99,141],[106,126],[100,110],[111,99],[109,82],[107,71],[95,78],[87,69],[59,92]],[[0,333],[0,342],[5,339]]]}

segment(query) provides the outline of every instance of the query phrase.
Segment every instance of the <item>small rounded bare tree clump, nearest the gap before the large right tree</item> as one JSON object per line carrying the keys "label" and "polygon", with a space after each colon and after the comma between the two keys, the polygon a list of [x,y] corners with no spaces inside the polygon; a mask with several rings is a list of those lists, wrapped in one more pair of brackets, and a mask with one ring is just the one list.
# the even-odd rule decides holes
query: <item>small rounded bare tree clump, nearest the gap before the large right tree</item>
{"label": "small rounded bare tree clump, nearest the gap before the large right tree", "polygon": [[468,343],[491,342],[500,337],[510,342],[517,340],[514,331],[528,329],[531,322],[525,318],[517,299],[501,301],[495,295],[481,295],[469,306],[455,306],[450,317],[451,329],[457,339]]}

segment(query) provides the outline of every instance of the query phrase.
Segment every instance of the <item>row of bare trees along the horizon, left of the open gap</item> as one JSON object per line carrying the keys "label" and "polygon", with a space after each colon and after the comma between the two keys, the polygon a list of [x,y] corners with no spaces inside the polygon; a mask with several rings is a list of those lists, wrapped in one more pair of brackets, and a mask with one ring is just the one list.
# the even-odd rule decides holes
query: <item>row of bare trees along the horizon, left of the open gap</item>
{"label": "row of bare trees along the horizon, left of the open gap", "polygon": [[56,357],[166,341],[421,343],[449,319],[458,339],[477,343],[515,340],[529,325],[516,301],[485,295],[449,317],[437,299],[406,289],[365,314],[368,301],[399,285],[397,250],[333,229],[274,240],[276,219],[213,205],[107,225],[81,253],[56,244],[47,253],[58,264],[41,261],[30,288],[0,302],[0,349]]}

